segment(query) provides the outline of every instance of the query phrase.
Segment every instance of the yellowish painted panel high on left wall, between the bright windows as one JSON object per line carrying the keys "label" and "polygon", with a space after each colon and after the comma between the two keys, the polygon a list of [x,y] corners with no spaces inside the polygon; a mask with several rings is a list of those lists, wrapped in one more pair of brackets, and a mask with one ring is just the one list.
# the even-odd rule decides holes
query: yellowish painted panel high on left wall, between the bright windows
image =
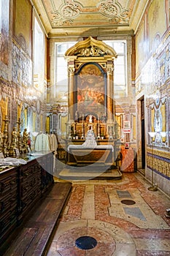
{"label": "yellowish painted panel high on left wall, between the bright windows", "polygon": [[31,57],[31,3],[28,0],[15,0],[14,37],[23,50]]}

